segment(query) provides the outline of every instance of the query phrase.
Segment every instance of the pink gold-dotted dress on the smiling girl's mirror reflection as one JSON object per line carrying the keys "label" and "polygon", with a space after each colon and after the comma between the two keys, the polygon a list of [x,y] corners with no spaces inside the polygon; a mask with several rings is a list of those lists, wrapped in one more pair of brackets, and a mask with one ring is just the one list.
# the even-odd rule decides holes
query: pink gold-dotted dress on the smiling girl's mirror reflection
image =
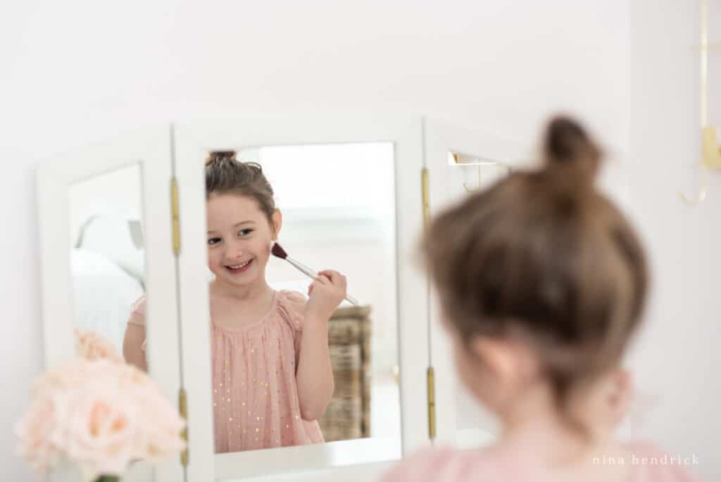
{"label": "pink gold-dotted dress on the smiling girl's mirror reflection", "polygon": [[[324,442],[318,422],[301,418],[296,387],[306,298],[273,293],[270,310],[239,328],[211,320],[216,453]],[[144,315],[145,299],[133,305]]]}

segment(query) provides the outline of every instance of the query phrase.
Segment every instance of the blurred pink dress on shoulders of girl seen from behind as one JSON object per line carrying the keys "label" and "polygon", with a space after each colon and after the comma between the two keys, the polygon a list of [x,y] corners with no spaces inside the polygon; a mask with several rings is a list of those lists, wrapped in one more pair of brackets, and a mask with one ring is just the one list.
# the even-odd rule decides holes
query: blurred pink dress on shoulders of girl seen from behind
{"label": "blurred pink dress on shoulders of girl seen from behind", "polygon": [[[685,467],[691,468],[694,460],[673,463],[670,455],[654,444],[630,442],[624,444],[629,455],[623,462],[631,466],[632,475],[618,482],[698,482]],[[664,458],[665,456],[665,458]],[[394,465],[384,473],[382,482],[551,482],[542,468],[528,461],[528,455],[488,451],[459,451],[448,448],[424,449]],[[674,457],[676,460],[676,457]],[[599,463],[610,464],[611,460]],[[697,463],[697,461],[696,461]]]}

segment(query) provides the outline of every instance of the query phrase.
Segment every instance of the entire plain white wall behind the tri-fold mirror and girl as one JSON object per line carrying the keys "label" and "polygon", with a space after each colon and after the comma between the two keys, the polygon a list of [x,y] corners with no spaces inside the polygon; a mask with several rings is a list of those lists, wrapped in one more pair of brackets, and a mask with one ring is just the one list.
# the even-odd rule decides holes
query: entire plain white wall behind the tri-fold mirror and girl
{"label": "entire plain white wall behind the tri-fold mirror and girl", "polygon": [[[718,478],[719,176],[701,209],[675,194],[691,188],[696,149],[692,3],[16,2],[0,15],[0,360],[12,394],[0,425],[42,367],[40,159],[142,123],[238,112],[393,110],[529,139],[570,109],[627,152],[628,203],[655,260],[653,325],[634,363],[664,402],[635,433],[696,452],[699,473]],[[33,480],[13,445],[2,432],[4,476]]]}

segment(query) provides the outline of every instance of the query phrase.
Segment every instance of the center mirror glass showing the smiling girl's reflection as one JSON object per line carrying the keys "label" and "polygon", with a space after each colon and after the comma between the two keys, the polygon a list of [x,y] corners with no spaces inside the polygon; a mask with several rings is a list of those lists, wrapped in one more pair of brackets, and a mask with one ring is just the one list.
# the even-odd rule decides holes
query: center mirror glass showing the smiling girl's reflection
{"label": "center mirror glass showing the smiling girl's reflection", "polygon": [[[215,452],[370,438],[376,460],[399,457],[393,144],[257,146],[209,161]],[[349,296],[327,272],[309,292],[304,267],[345,276]]]}

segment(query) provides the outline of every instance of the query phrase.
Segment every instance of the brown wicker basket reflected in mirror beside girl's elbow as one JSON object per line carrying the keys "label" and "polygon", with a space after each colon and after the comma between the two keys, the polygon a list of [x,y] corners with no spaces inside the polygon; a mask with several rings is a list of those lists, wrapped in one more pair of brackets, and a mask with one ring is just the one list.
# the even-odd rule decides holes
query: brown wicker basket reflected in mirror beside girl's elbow
{"label": "brown wicker basket reflected in mirror beside girl's elbow", "polygon": [[328,322],[335,392],[318,420],[326,442],[371,436],[371,307],[340,307]]}

